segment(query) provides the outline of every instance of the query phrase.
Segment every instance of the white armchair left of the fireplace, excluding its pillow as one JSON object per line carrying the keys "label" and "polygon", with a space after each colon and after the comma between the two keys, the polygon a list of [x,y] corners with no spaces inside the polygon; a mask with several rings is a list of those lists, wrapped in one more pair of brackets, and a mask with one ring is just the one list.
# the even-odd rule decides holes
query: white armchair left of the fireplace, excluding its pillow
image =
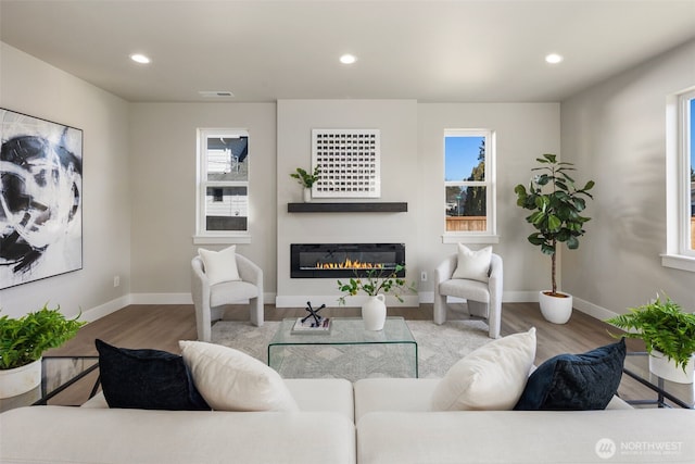
{"label": "white armchair left of the fireplace, excluding its pillow", "polygon": [[211,341],[212,323],[222,318],[224,305],[249,300],[251,323],[263,325],[263,271],[245,256],[236,254],[241,280],[210,285],[200,255],[191,261],[191,293],[195,305],[198,339]]}

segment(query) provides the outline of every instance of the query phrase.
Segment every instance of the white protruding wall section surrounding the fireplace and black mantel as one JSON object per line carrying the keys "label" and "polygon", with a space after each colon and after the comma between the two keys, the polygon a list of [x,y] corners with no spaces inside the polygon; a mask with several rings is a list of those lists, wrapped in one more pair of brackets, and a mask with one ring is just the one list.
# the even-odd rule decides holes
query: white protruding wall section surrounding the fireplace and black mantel
{"label": "white protruding wall section surrounding the fireplace and black mantel", "polygon": [[[288,202],[302,201],[302,187],[290,177],[290,173],[296,167],[311,168],[313,128],[379,129],[381,198],[346,201],[403,201],[408,203],[408,212],[288,213]],[[278,101],[278,304],[303,305],[307,298],[325,297],[320,303],[331,305],[340,296],[334,279],[289,278],[290,243],[405,243],[406,278],[413,280],[414,276],[418,276],[416,211],[421,204],[417,195],[419,174],[417,103],[414,100]],[[389,301],[389,304],[395,303]]]}

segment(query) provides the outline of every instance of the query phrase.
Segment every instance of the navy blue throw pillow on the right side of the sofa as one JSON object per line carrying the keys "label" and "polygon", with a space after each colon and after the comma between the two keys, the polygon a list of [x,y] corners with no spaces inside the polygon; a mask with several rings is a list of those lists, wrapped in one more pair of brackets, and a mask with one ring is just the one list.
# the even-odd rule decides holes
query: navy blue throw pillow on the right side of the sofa
{"label": "navy blue throw pillow on the right side of the sofa", "polygon": [[529,376],[517,411],[604,410],[618,391],[626,341],[551,358]]}

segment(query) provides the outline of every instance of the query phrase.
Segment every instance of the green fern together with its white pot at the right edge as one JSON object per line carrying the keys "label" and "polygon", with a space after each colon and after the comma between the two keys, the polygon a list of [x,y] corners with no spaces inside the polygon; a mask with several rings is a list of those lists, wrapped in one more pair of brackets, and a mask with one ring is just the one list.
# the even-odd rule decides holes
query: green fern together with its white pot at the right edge
{"label": "green fern together with its white pot at the right edge", "polygon": [[692,384],[695,371],[695,314],[683,312],[668,296],[659,294],[654,302],[630,308],[630,313],[606,322],[635,331],[620,337],[644,341],[649,353],[649,371],[661,378],[679,384]]}

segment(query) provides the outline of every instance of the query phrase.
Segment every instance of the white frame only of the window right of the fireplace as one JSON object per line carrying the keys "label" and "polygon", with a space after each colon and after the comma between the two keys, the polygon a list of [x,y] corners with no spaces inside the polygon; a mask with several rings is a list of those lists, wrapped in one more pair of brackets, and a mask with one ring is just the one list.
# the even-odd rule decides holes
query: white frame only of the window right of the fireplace
{"label": "white frame only of the window right of the fireplace", "polygon": [[[446,180],[446,138],[484,137],[485,139],[485,180]],[[446,212],[442,217],[443,243],[498,243],[496,221],[496,141],[495,131],[484,128],[446,128],[442,137],[442,187],[443,202],[446,201],[446,187],[485,187],[485,230],[446,230]]]}

